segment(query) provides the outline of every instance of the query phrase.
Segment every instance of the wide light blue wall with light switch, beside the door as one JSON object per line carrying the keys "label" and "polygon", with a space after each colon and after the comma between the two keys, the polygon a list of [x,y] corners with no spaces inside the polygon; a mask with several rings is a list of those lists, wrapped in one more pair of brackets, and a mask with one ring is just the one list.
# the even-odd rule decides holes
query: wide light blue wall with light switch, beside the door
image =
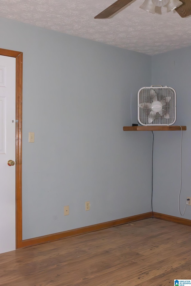
{"label": "wide light blue wall with light switch, beside the door", "polygon": [[23,52],[23,239],[151,211],[150,132],[123,131],[151,84],[151,57],[0,25],[1,48]]}

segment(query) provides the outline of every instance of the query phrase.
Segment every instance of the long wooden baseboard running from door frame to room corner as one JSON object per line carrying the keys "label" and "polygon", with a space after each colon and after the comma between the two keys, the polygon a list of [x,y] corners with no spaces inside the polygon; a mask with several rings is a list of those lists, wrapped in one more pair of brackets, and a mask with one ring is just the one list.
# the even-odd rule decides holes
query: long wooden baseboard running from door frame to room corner
{"label": "long wooden baseboard running from door frame to room corner", "polygon": [[152,212],[147,212],[147,213],[144,213],[141,215],[133,215],[131,217],[125,217],[125,218],[121,218],[118,220],[111,220],[111,221],[108,221],[105,223],[94,224],[92,226],[84,226],[84,227],[81,227],[78,229],[72,229],[72,230],[68,230],[68,231],[44,235],[41,237],[35,237],[35,238],[31,238],[31,239],[21,240],[21,241],[18,241],[18,247],[17,248],[24,248],[24,247],[37,245],[37,244],[43,244],[43,243],[47,243],[50,241],[55,241],[55,240],[60,240],[60,239],[67,238],[67,237],[73,237],[73,236],[77,236],[80,234],[85,234],[88,232],[98,231],[101,229],[107,229],[107,228],[110,228],[113,226],[119,226],[119,225],[126,224],[129,222],[133,222],[136,220],[144,220],[144,219],[150,218],[150,217],[152,217]]}

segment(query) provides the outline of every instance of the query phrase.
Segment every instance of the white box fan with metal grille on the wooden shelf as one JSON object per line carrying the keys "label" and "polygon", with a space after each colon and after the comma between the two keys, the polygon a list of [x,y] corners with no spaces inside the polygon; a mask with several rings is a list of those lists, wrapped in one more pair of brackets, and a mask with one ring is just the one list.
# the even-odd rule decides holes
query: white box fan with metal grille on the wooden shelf
{"label": "white box fan with metal grille on the wooden shelf", "polygon": [[176,92],[168,86],[143,87],[138,91],[141,125],[172,125],[176,121]]}

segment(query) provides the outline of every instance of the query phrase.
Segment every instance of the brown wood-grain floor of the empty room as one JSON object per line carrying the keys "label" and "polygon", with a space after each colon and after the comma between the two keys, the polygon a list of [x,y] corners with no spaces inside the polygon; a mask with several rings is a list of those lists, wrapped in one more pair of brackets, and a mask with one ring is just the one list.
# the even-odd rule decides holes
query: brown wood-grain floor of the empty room
{"label": "brown wood-grain floor of the empty room", "polygon": [[191,279],[191,228],[149,218],[0,254],[3,286],[173,286]]}

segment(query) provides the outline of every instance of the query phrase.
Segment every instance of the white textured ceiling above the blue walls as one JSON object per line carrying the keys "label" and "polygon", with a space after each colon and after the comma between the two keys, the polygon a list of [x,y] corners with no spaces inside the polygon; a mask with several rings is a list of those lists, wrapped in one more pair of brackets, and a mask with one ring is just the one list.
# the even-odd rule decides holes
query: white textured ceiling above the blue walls
{"label": "white textured ceiling above the blue walls", "polygon": [[[191,46],[191,16],[140,9],[133,0],[113,17],[94,19],[115,0],[1,0],[0,16],[46,29],[155,55]],[[160,8],[159,8],[160,9]]]}

